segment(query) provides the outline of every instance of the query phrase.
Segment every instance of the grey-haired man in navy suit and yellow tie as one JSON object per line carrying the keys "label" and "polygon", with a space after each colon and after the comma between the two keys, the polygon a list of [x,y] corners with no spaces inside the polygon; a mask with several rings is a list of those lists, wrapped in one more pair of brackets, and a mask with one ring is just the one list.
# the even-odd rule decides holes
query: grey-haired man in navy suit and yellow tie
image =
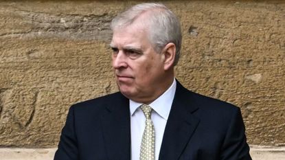
{"label": "grey-haired man in navy suit and yellow tie", "polygon": [[119,92],[71,106],[55,160],[249,160],[240,109],[174,79],[181,27],[142,3],[111,23]]}

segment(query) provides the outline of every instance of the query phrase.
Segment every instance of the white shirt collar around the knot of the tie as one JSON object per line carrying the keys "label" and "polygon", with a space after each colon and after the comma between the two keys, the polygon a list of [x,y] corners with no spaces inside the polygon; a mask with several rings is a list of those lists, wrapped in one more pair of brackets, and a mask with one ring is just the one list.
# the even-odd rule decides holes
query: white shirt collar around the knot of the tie
{"label": "white shirt collar around the knot of the tie", "polygon": [[[159,114],[163,119],[168,119],[172,102],[176,91],[176,80],[174,79],[171,86],[162,95],[159,96],[154,102],[149,104],[151,108]],[[130,115],[133,115],[141,103],[130,100]]]}

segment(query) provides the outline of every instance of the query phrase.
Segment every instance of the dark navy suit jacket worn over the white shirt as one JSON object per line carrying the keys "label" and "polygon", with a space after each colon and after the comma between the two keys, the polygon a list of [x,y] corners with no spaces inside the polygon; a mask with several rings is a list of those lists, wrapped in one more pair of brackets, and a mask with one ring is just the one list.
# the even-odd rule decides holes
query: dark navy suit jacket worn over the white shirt
{"label": "dark navy suit jacket worn over the white shirt", "polygon": [[[54,160],[129,160],[129,100],[122,93],[74,104]],[[251,160],[240,109],[177,83],[159,160]]]}

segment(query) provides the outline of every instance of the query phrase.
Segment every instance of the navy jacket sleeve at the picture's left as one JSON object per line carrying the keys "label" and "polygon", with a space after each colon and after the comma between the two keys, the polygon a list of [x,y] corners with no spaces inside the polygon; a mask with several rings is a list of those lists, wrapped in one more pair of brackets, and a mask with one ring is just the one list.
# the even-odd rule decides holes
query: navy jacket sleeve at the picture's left
{"label": "navy jacket sleeve at the picture's left", "polygon": [[58,150],[54,155],[54,160],[78,160],[78,145],[76,139],[75,125],[74,125],[74,108],[69,108],[67,114],[67,121],[62,128]]}

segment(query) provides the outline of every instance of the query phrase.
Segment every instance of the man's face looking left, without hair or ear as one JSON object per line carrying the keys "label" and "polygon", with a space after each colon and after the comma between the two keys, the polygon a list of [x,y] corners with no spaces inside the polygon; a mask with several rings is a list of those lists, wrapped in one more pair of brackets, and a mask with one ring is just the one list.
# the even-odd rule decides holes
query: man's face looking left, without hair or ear
{"label": "man's face looking left, without hair or ear", "polygon": [[147,103],[161,92],[163,54],[155,52],[144,25],[134,23],[113,31],[113,69],[119,91],[130,100]]}

